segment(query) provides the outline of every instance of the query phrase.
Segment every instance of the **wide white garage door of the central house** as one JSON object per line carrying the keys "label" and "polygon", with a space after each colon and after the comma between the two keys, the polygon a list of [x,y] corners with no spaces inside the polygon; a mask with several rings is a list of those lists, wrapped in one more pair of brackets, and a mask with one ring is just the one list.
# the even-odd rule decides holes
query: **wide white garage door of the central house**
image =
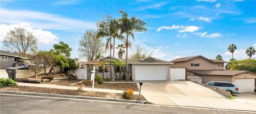
{"label": "wide white garage door of the central house", "polygon": [[136,81],[167,80],[167,66],[136,66]]}

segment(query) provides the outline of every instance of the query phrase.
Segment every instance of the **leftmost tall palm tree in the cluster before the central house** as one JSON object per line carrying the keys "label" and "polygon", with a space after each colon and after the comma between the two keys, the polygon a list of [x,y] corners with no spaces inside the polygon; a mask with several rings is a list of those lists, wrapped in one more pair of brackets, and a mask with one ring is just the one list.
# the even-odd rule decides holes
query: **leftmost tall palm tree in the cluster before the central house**
{"label": "leftmost tall palm tree in the cluster before the central house", "polygon": [[[110,58],[110,62],[111,62],[111,49],[112,49],[112,44],[111,44],[111,40],[113,38],[113,36],[115,37],[119,37],[117,36],[117,32],[118,32],[118,25],[117,25],[117,21],[112,19],[111,16],[109,15],[105,15],[105,21],[101,21],[100,23],[98,23],[98,34],[97,37],[106,37],[107,38],[107,43],[106,43],[106,50],[108,50],[109,48],[109,58]],[[111,68],[111,63],[110,63],[110,80],[112,80],[112,68]]]}

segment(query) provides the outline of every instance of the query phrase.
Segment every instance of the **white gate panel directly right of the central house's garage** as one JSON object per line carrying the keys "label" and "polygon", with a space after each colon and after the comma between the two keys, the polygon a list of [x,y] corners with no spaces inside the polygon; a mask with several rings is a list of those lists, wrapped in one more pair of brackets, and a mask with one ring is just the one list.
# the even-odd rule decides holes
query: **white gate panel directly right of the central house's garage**
{"label": "white gate panel directly right of the central house's garage", "polygon": [[171,80],[186,80],[186,68],[170,68]]}

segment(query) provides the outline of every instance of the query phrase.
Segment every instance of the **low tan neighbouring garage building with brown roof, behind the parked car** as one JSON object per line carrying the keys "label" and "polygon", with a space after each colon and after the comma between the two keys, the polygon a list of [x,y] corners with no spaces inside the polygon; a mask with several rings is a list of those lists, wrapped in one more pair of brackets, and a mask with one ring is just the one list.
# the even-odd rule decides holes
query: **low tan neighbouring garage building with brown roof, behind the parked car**
{"label": "low tan neighbouring garage building with brown roof, behind the parked car", "polygon": [[256,73],[237,70],[188,70],[188,75],[203,78],[203,83],[211,81],[235,82],[240,92],[252,92],[256,87]]}

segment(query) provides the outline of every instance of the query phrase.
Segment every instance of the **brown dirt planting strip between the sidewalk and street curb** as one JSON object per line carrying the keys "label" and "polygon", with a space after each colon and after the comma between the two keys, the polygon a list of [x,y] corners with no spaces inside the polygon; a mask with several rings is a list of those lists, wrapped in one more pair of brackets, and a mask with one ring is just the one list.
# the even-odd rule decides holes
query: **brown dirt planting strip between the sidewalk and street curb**
{"label": "brown dirt planting strip between the sidewalk and street curb", "polygon": [[[76,91],[65,89],[50,89],[45,87],[31,87],[31,86],[12,86],[12,87],[0,87],[0,90],[5,91],[19,91],[19,92],[35,92],[35,93],[50,93],[50,94],[65,94],[65,95],[78,95],[85,97],[100,97],[100,98],[113,98],[113,99],[125,99],[121,93],[107,93],[107,92],[91,92],[91,91]],[[146,99],[141,95],[140,99],[138,95],[134,95],[132,100]]]}

